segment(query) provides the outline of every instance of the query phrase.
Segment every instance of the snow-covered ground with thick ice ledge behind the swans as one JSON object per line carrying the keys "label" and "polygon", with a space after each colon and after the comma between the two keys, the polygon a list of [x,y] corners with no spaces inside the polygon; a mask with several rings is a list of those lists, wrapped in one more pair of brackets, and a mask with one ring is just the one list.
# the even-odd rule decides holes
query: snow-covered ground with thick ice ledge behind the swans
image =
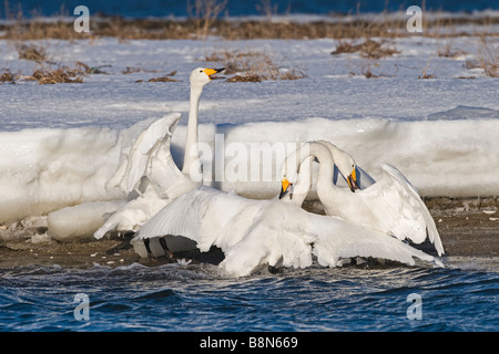
{"label": "snow-covered ground with thick ice ledge behind the swans", "polygon": [[[499,195],[499,81],[466,67],[480,54],[478,37],[399,38],[389,43],[399,53],[379,60],[332,55],[338,41],[330,39],[31,43],[43,46],[51,62],[111,66],[81,84],[39,85],[22,79],[0,84],[0,222],[122,197],[104,186],[118,167],[123,134],[147,118],[184,114],[172,146],[181,166],[189,74],[196,66],[221,66],[205,58],[235,50],[265,53],[282,72],[301,70],[306,77],[215,81],[205,87],[200,140],[225,152],[222,167],[214,166],[213,155],[203,156],[215,187],[273,197],[279,189],[281,152],[291,153],[288,143],[327,139],[374,177],[380,163],[396,166],[421,196]],[[445,48],[459,54],[439,56]],[[141,71],[123,74],[126,66]],[[30,75],[37,67],[19,60],[16,43],[0,41],[0,74],[8,69]],[[378,77],[366,79],[366,70]],[[173,71],[179,82],[146,82]],[[424,73],[434,79],[419,79]],[[263,166],[268,149],[274,158]],[[254,178],[252,160],[262,170],[269,168],[272,178]],[[214,178],[216,168],[225,170],[222,178]]]}

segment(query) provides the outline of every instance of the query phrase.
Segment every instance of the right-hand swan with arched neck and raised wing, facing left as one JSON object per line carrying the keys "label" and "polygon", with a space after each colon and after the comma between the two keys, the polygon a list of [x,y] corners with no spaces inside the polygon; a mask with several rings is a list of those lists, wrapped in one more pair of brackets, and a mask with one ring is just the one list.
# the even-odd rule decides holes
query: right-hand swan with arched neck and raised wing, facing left
{"label": "right-hand swan with arched neck and raised wing, facing left", "polygon": [[[359,189],[356,180],[357,166],[354,158],[329,142],[306,143],[307,148],[288,156],[299,165],[309,156],[315,156],[320,164],[317,177],[317,196],[328,216],[338,216],[345,220],[394,236],[400,240],[409,239],[421,243],[427,235],[434,243],[438,256],[445,253],[435,221],[417,189],[394,166],[381,164],[383,177],[367,188]],[[305,153],[303,153],[305,152]],[[301,154],[299,158],[292,156]],[[286,184],[296,179],[298,168],[293,164],[286,166]],[[333,180],[333,165],[337,165],[342,175],[348,180],[348,189],[338,188]],[[302,171],[302,167],[299,170]],[[305,167],[305,170],[309,168]]]}

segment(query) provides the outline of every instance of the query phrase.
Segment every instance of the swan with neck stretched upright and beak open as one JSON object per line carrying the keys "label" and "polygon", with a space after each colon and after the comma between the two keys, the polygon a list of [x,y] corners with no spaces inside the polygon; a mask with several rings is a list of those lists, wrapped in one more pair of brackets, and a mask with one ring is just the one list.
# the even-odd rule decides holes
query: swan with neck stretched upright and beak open
{"label": "swan with neck stretched upright and beak open", "polygon": [[113,230],[136,232],[167,202],[200,185],[201,181],[196,181],[198,178],[192,177],[195,167],[201,167],[196,153],[200,97],[203,87],[217,79],[216,75],[223,70],[196,67],[191,72],[187,137],[182,170],[170,150],[171,137],[182,115],[172,113],[150,124],[122,156],[121,165],[106,188],[120,186],[129,195],[128,202],[109,216],[93,233],[94,238],[101,239]]}

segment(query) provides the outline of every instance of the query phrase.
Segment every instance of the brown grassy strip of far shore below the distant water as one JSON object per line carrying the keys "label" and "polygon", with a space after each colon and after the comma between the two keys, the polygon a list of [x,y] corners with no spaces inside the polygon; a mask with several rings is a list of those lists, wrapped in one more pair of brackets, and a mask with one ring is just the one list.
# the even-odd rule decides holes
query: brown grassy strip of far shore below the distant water
{"label": "brown grassy strip of far shore below the distant water", "polygon": [[[75,17],[68,14],[50,18],[26,18],[22,13],[0,21],[0,40],[95,40],[114,37],[120,40],[179,40],[217,37],[224,40],[257,39],[363,39],[399,38],[407,31],[405,12],[386,12],[354,15],[276,15],[214,18],[124,18],[121,15],[93,14],[89,32],[77,32]],[[420,35],[429,38],[462,35],[497,35],[495,28],[499,18],[483,11],[472,15],[466,13],[425,13]],[[471,30],[459,30],[467,25]]]}

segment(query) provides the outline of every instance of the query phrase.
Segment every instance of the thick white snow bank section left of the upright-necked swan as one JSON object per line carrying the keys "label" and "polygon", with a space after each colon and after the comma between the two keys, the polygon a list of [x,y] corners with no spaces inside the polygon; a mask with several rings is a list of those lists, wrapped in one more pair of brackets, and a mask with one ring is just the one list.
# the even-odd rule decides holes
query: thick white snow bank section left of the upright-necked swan
{"label": "thick white snow bank section left of the upright-necked swan", "polygon": [[109,128],[0,133],[0,222],[115,197],[104,185],[119,159]]}

